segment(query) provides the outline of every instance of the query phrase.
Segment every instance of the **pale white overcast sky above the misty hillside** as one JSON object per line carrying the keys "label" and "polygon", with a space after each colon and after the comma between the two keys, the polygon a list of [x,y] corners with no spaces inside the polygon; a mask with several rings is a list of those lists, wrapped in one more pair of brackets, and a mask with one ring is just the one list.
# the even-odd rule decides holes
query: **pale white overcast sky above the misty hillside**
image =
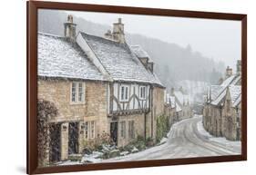
{"label": "pale white overcast sky above the misty hillside", "polygon": [[127,33],[143,34],[182,47],[190,44],[193,51],[216,61],[221,60],[234,70],[236,60],[241,59],[240,21],[74,11],[67,13],[108,25],[121,17]]}

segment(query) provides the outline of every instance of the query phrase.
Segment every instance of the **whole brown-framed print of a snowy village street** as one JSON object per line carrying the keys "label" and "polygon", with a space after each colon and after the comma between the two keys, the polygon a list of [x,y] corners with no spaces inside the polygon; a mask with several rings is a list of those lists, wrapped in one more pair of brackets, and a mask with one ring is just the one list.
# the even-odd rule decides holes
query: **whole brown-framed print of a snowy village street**
{"label": "whole brown-framed print of a snowy village street", "polygon": [[27,173],[247,160],[247,16],[27,2]]}

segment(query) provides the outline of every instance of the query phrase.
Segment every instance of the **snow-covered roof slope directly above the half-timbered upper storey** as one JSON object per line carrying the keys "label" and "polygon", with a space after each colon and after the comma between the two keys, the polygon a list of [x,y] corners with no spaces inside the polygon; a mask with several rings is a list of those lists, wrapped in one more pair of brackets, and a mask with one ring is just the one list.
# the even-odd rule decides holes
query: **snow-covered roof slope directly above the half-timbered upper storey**
{"label": "snow-covered roof slope directly above the half-timbered upper storey", "polygon": [[148,71],[128,44],[80,33],[114,81],[153,83],[163,87],[155,73]]}

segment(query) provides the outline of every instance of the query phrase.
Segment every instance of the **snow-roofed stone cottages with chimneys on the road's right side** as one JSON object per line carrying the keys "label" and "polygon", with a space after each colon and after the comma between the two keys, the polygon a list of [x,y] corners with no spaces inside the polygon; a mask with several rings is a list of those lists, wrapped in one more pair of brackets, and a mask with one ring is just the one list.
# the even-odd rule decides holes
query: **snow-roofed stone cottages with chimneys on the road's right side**
{"label": "snow-roofed stone cottages with chimneys on the road's right side", "polygon": [[209,87],[203,126],[214,136],[241,140],[241,61],[237,62],[237,73],[228,66],[220,85]]}

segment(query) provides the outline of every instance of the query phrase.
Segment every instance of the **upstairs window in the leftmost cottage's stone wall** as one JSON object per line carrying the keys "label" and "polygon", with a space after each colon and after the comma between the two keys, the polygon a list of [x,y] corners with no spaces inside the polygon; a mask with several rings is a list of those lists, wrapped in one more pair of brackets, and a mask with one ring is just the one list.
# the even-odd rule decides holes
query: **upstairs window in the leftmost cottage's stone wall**
{"label": "upstairs window in the leftmost cottage's stone wall", "polygon": [[71,102],[85,102],[84,83],[71,83]]}

